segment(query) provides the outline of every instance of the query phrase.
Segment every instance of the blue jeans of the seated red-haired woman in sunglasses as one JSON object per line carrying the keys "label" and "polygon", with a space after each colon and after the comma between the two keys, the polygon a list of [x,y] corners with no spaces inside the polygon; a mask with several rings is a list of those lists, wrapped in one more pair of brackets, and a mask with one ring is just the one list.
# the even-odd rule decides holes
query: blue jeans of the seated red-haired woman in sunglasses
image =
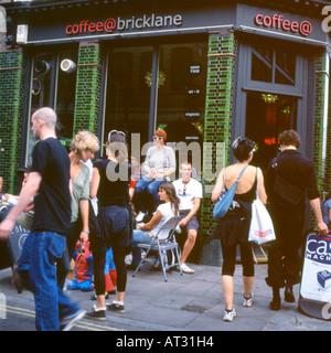
{"label": "blue jeans of the seated red-haired woman in sunglasses", "polygon": [[137,211],[153,213],[160,204],[159,186],[167,181],[163,179],[154,179],[147,181],[143,178],[138,181],[135,186],[135,204]]}

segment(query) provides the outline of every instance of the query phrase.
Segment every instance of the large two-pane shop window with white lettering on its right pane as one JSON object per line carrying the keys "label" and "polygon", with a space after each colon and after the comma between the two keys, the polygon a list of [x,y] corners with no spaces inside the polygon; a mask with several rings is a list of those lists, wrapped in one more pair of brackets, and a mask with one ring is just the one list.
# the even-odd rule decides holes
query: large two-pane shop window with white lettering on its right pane
{"label": "large two-pane shop window with white lettering on its right pane", "polygon": [[[152,85],[153,55],[159,64],[157,87]],[[148,133],[153,125],[153,129],[167,131],[167,142],[179,153],[182,143],[188,146],[194,141],[202,150],[206,68],[207,42],[110,50],[104,140],[113,129],[126,132],[129,142],[132,133],[139,133],[142,148],[152,142]],[[157,89],[154,110],[151,89]],[[156,121],[150,121],[152,116]],[[142,150],[131,152],[143,156]]]}

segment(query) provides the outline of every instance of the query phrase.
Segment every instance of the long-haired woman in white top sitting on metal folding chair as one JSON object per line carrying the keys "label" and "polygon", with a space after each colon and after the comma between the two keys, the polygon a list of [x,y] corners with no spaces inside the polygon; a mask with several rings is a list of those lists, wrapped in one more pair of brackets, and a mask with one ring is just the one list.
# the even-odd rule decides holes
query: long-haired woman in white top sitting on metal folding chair
{"label": "long-haired woman in white top sitting on metal folding chair", "polygon": [[[137,267],[141,260],[141,249],[138,244],[151,244],[161,226],[174,215],[179,215],[180,200],[177,196],[175,189],[170,181],[163,182],[159,186],[160,204],[148,223],[139,223],[138,229],[134,231],[131,247],[132,247],[132,267]],[[164,239],[168,237],[167,231],[161,232],[158,237]]]}

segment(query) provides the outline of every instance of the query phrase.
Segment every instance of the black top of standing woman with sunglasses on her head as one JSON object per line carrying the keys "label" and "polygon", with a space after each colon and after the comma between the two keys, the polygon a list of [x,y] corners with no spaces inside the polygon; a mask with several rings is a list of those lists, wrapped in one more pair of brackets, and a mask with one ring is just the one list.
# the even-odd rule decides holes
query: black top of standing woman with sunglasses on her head
{"label": "black top of standing woman with sunglasses on her head", "polygon": [[103,159],[94,162],[94,167],[100,173],[100,183],[97,192],[98,205],[105,206],[126,206],[127,193],[130,179],[130,165]]}

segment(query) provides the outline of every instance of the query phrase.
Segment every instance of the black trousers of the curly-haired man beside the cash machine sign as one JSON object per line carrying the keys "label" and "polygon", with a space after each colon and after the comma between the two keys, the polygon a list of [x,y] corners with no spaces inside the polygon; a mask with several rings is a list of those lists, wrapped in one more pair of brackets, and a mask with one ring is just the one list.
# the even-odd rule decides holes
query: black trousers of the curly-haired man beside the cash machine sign
{"label": "black trousers of the curly-haired man beside the cash machine sign", "polygon": [[274,288],[282,288],[300,282],[301,255],[303,244],[305,210],[270,210],[276,240],[268,250],[268,277],[266,282]]}

